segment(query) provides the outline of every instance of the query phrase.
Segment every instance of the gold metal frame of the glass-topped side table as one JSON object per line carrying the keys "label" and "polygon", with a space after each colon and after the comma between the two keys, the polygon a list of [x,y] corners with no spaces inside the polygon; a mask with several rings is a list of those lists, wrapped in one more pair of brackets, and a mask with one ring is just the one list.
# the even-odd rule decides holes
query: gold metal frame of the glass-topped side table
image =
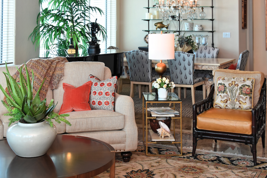
{"label": "gold metal frame of the glass-topped side table", "polygon": [[[171,117],[173,120],[173,136],[174,136],[174,140],[175,139],[175,120],[176,119],[180,119],[180,142],[176,142],[176,141],[150,141],[148,142],[147,141],[147,136],[148,136],[148,127],[147,127],[147,119],[156,119],[156,117],[147,117],[147,103],[173,103],[173,108],[171,109],[174,109],[175,110],[175,103],[180,103],[180,113],[179,113],[179,116],[180,117]],[[146,109],[146,141],[144,141],[144,109]],[[147,151],[147,144],[149,143],[153,143],[153,144],[156,144],[156,143],[159,143],[159,142],[163,142],[163,143],[171,143],[171,144],[175,144],[175,146],[177,147],[177,149],[179,150],[180,154],[171,154],[171,155],[168,155],[168,156],[182,156],[183,155],[183,152],[182,152],[182,101],[167,101],[167,100],[161,100],[161,101],[146,101],[146,107],[144,107],[144,95],[143,95],[143,145],[144,145],[144,148],[146,150],[146,156],[160,156],[162,154],[148,154],[148,151]],[[178,144],[180,144],[180,147],[181,149],[178,147]]]}

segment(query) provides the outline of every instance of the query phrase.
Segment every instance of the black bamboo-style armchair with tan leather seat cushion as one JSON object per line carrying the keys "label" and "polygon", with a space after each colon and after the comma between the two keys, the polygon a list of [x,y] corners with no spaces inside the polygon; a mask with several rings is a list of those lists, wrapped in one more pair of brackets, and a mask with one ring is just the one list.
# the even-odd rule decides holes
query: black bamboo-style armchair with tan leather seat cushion
{"label": "black bamboo-style armchair with tan leather seat cushion", "polygon": [[[227,81],[227,78],[225,79],[223,77],[228,77],[228,79],[231,77],[236,81],[238,81],[237,78],[244,78],[244,80],[240,80],[240,86],[240,83],[235,83],[235,81],[233,81],[233,83],[228,82],[230,80]],[[226,82],[223,83],[221,82],[222,80]],[[252,89],[248,92],[249,95],[247,96],[245,96],[245,92],[242,93],[245,81],[253,81],[251,82],[253,87],[249,87],[249,89]],[[225,90],[222,90],[220,88],[221,86],[223,86]],[[238,90],[232,90],[232,86],[235,86],[235,89],[238,88]],[[233,95],[233,91],[237,91],[235,92],[237,94],[236,96]],[[236,100],[233,99],[233,96],[234,98],[236,97]],[[227,100],[230,102],[228,103]],[[236,104],[231,102],[236,102]],[[250,102],[252,106],[244,107],[247,106],[245,104],[248,102]],[[236,108],[236,106],[240,108]],[[249,108],[250,110],[241,110]],[[266,78],[264,78],[264,73],[219,69],[214,73],[214,84],[209,96],[193,105],[192,156],[195,154],[197,141],[199,139],[214,139],[215,142],[217,142],[217,140],[234,141],[250,146],[254,164],[257,165],[256,145],[261,137],[262,147],[265,147],[265,124]]]}

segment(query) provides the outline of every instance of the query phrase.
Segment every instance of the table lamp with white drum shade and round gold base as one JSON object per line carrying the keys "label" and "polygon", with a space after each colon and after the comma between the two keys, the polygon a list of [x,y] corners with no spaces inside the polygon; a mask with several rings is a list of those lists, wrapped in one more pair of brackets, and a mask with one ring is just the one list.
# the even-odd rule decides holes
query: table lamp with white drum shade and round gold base
{"label": "table lamp with white drum shade and round gold base", "polygon": [[166,64],[162,60],[174,59],[174,33],[151,33],[148,34],[148,59],[160,60],[155,66],[155,71],[162,78],[167,71]]}

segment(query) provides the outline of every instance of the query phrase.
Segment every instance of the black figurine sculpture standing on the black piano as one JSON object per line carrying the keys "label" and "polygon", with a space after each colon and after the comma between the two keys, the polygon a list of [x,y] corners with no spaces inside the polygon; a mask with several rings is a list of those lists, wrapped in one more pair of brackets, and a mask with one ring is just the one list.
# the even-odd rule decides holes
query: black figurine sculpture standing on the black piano
{"label": "black figurine sculpture standing on the black piano", "polygon": [[[97,18],[96,18],[97,20]],[[93,54],[99,54],[100,53],[100,48],[99,44],[97,42],[101,40],[97,40],[96,34],[100,31],[100,27],[96,22],[91,22],[91,41],[89,41],[89,47],[88,47],[88,54],[93,55]]]}

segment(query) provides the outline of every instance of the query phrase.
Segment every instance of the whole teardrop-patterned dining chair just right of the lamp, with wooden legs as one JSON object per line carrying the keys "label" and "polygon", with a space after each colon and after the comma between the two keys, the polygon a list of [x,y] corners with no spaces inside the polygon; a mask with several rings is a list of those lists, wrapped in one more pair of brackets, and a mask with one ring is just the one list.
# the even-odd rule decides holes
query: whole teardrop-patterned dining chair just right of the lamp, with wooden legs
{"label": "whole teardrop-patterned dining chair just right of the lamp, with wooden legs", "polygon": [[[192,103],[195,103],[195,87],[203,85],[205,79],[199,76],[194,76],[194,60],[195,55],[182,51],[174,52],[174,59],[168,60],[170,69],[171,82],[174,82],[177,88],[178,96],[181,98],[181,88],[191,88]],[[174,92],[174,88],[171,92]],[[206,92],[203,85],[203,94]]]}

